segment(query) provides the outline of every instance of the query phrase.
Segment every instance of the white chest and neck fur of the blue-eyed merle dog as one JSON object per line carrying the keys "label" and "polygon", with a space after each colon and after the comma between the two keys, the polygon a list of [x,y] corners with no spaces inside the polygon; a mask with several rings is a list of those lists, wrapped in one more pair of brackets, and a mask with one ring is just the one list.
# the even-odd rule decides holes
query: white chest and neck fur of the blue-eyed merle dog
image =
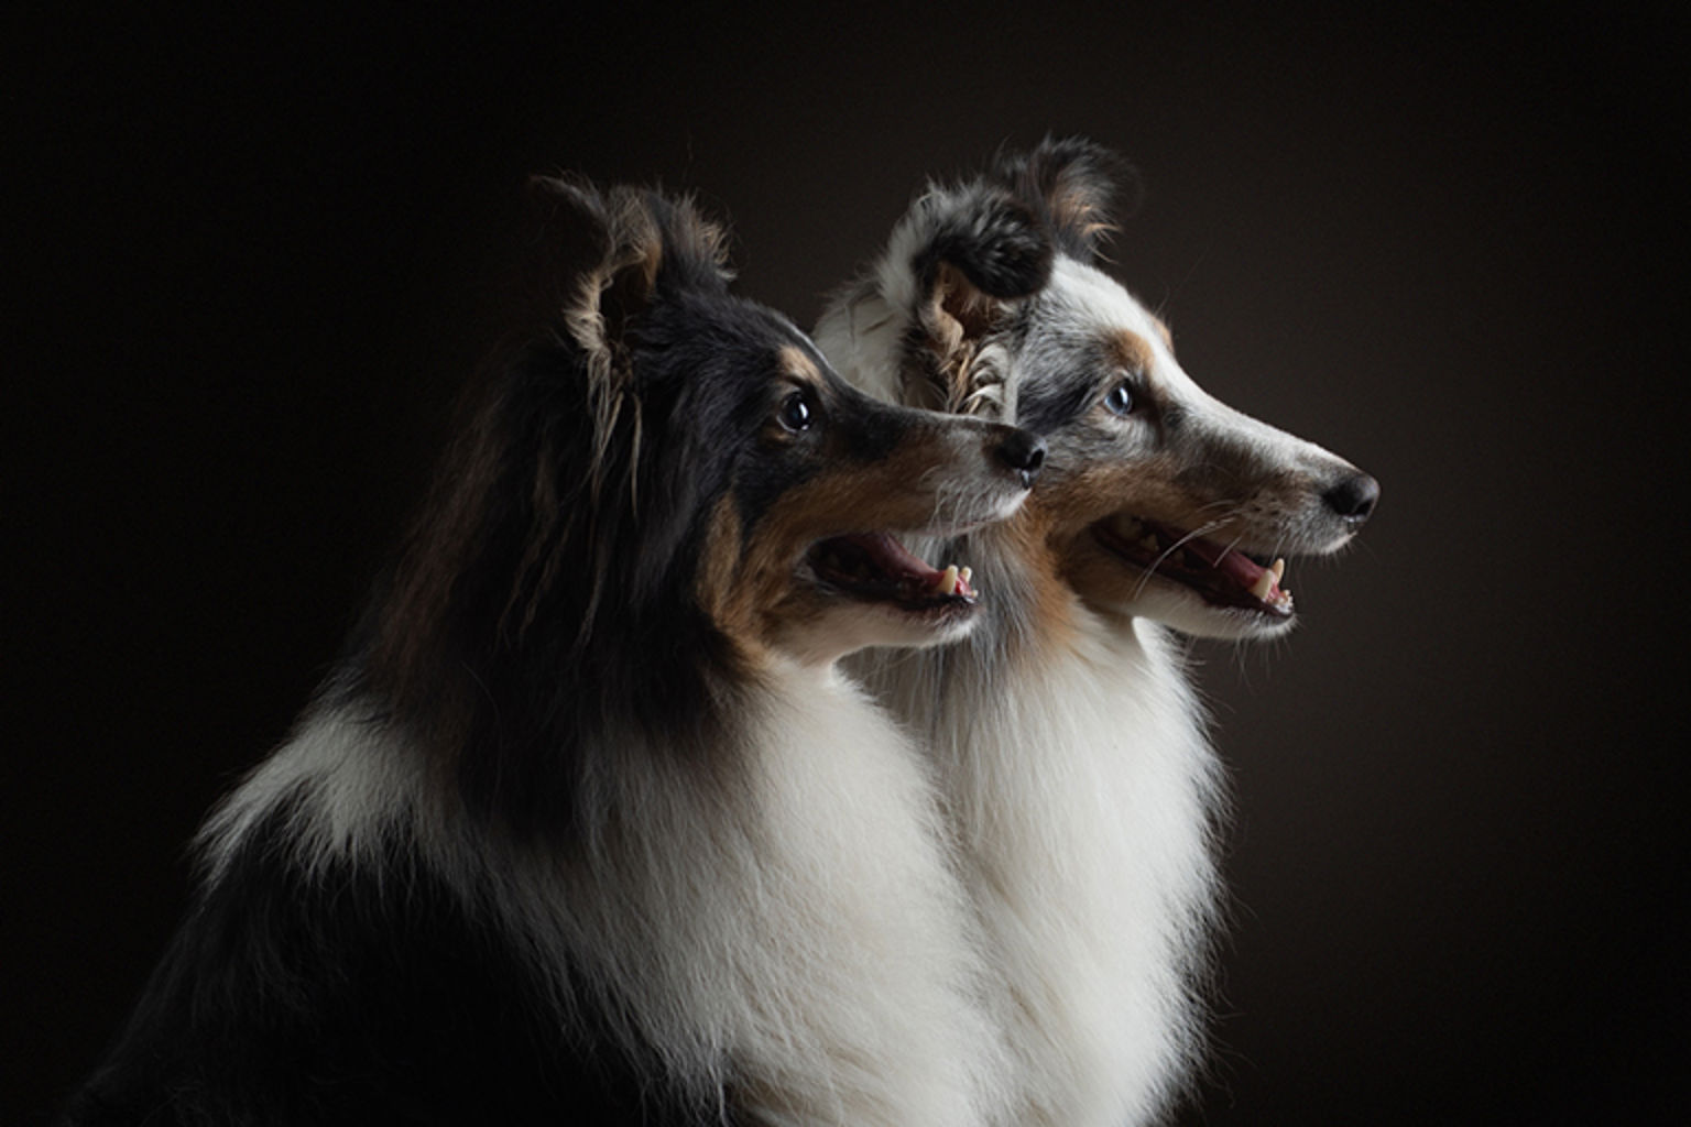
{"label": "white chest and neck fur of the blue-eyed merle dog", "polygon": [[862,671],[937,762],[1016,1054],[1008,1122],[1148,1124],[1197,1061],[1219,769],[1168,635],[1084,607],[1028,536],[955,549],[988,629]]}

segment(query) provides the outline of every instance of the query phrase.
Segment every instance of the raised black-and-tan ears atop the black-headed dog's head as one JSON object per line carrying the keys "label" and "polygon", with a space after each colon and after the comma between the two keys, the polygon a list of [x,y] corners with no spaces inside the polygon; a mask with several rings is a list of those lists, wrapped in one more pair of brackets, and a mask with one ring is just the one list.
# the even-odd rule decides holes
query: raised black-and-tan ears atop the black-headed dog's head
{"label": "raised black-and-tan ears atop the black-headed dog's head", "polygon": [[727,284],[727,240],[692,201],[565,176],[531,177],[529,201],[546,314],[590,355],[619,353],[659,289]]}

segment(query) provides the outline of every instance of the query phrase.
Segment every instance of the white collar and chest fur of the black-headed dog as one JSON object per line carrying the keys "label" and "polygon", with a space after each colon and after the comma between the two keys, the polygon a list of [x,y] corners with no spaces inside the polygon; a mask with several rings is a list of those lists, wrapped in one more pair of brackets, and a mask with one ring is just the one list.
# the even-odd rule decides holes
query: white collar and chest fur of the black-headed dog
{"label": "white collar and chest fur of the black-headed dog", "polygon": [[731,1085],[756,1122],[986,1122],[998,1034],[920,757],[832,667],[766,672],[729,725],[737,777],[700,789],[673,757],[622,754],[568,857],[443,806],[358,705],[320,710],[208,823],[210,879],[286,801],[299,863],[379,867],[384,840],[413,843],[529,945],[560,1022],[583,978],[619,994],[624,1037],[697,1092]]}

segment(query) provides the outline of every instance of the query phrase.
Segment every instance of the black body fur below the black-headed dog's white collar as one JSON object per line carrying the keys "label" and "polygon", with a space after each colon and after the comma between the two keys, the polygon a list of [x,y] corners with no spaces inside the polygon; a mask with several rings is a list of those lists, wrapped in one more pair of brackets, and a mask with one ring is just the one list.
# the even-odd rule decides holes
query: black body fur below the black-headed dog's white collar
{"label": "black body fur below the black-headed dog's white collar", "polygon": [[196,899],[64,1127],[720,1124],[577,1014],[401,843],[291,863],[289,808]]}

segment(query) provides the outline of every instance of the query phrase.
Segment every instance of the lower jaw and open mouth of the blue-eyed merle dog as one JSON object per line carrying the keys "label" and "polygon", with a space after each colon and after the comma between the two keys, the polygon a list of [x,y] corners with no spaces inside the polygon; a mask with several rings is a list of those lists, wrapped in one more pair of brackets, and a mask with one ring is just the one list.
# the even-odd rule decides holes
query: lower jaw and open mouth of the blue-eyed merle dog
{"label": "lower jaw and open mouth of the blue-eyed merle dog", "polygon": [[1182,634],[1255,640],[1297,623],[1292,593],[1280,586],[1285,561],[1268,563],[1167,525],[1101,520],[1065,556],[1067,578],[1089,603]]}

